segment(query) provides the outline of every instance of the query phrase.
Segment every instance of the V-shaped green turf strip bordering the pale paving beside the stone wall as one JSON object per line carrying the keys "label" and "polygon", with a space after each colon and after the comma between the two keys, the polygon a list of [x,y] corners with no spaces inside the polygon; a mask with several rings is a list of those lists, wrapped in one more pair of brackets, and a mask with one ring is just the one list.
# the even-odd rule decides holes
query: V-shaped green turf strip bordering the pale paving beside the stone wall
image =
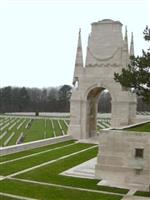
{"label": "V-shaped green turf strip bordering the pale paving beside the stone wall", "polygon": [[128,192],[126,189],[120,188],[111,188],[105,186],[97,186],[99,180],[94,179],[83,179],[83,178],[74,178],[59,175],[61,172],[70,169],[80,163],[83,163],[91,158],[96,157],[98,148],[87,150],[86,152],[79,153],[77,155],[71,156],[69,158],[57,161],[56,163],[49,164],[42,167],[40,170],[35,169],[30,172],[18,175],[19,178],[61,184],[73,187],[82,187],[88,189],[103,190],[109,192],[116,192],[125,194]]}

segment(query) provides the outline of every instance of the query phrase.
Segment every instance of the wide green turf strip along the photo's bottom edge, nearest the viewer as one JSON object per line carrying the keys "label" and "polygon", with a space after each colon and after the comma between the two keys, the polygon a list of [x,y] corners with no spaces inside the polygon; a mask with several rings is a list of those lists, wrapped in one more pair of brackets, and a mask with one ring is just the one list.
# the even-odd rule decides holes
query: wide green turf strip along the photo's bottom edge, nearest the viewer
{"label": "wide green turf strip along the photo's bottom edge, nearest the viewer", "polygon": [[0,182],[0,191],[41,200],[120,200],[122,196],[99,194],[15,180]]}

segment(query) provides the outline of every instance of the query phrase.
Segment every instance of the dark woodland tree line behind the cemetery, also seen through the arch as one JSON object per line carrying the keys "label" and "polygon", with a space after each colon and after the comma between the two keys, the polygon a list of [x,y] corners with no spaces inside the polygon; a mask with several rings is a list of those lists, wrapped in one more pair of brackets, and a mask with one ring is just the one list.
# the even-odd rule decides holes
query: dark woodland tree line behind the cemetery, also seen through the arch
{"label": "dark woodland tree line behind the cemetery, also seen through the arch", "polygon": [[[69,112],[72,87],[0,88],[0,113],[5,112]],[[111,95],[103,91],[99,96],[98,111],[111,112]],[[150,111],[149,105],[138,97],[137,111]]]}

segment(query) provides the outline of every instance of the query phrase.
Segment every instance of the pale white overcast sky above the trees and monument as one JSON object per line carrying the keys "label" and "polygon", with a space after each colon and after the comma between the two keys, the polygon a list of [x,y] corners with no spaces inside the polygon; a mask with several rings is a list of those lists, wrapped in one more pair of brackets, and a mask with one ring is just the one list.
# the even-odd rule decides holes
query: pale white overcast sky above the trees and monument
{"label": "pale white overcast sky above the trees and monument", "polygon": [[72,84],[78,30],[85,57],[91,23],[105,18],[134,32],[136,54],[147,48],[149,0],[0,0],[0,87]]}

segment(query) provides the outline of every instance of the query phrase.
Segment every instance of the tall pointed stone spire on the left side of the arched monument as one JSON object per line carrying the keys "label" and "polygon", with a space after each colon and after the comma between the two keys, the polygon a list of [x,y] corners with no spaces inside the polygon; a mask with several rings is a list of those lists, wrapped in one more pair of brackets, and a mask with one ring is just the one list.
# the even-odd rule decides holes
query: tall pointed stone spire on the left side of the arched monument
{"label": "tall pointed stone spire on the left side of the arched monument", "polygon": [[83,54],[82,54],[82,43],[81,43],[81,29],[79,29],[73,85],[76,83],[77,80],[79,80],[82,68],[83,68]]}

